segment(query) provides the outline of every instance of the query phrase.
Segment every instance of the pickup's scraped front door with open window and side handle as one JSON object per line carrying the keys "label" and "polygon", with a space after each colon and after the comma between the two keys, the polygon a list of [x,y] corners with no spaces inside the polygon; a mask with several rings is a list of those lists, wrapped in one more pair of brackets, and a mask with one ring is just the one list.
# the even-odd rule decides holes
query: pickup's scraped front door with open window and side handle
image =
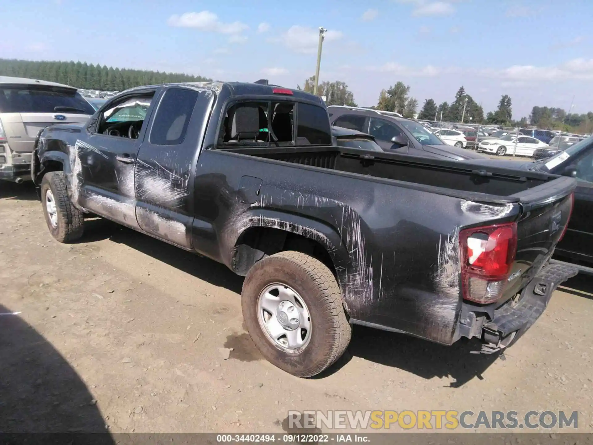
{"label": "pickup's scraped front door with open window and side handle", "polygon": [[[144,138],[154,91],[136,93],[107,103],[86,140],[76,141],[74,171],[78,203],[128,227],[138,228],[135,215],[134,170]],[[75,164],[76,166],[76,164]]]}

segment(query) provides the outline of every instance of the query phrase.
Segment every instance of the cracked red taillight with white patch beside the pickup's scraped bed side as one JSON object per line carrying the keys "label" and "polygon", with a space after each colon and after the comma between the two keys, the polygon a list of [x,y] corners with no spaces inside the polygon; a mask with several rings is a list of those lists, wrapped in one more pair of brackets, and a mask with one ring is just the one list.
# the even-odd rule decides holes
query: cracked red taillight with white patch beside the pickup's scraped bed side
{"label": "cracked red taillight with white patch beside the pickup's scraped bed side", "polygon": [[498,300],[517,254],[517,223],[468,228],[459,241],[464,298],[484,304]]}

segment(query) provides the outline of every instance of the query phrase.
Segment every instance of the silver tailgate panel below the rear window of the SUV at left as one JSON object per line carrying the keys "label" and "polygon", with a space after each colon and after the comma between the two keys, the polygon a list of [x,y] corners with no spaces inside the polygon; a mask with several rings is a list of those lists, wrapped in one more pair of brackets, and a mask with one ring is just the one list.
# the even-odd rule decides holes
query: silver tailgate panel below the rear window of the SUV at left
{"label": "silver tailgate panel below the rear window of the SUV at left", "polygon": [[86,122],[90,115],[80,113],[4,113],[2,126],[12,151],[33,151],[35,138],[39,132],[53,123]]}

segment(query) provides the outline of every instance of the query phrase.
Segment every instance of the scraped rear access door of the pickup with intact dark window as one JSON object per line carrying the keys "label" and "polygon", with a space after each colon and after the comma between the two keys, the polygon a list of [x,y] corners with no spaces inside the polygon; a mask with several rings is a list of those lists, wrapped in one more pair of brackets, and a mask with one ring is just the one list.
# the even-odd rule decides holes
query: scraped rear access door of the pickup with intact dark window
{"label": "scraped rear access door of the pickup with intact dark window", "polygon": [[192,248],[194,212],[189,191],[205,132],[204,117],[209,115],[213,100],[211,91],[167,88],[136,161],[139,226],[184,249]]}

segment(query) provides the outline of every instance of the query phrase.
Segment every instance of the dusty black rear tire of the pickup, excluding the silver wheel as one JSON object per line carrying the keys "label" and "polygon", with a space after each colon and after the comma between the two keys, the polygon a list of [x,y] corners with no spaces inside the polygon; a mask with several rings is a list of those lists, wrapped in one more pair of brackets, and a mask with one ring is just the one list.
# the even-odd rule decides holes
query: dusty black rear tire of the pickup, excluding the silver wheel
{"label": "dusty black rear tire of the pickup, excluding the silver wheel", "polygon": [[[258,298],[268,285],[280,283],[304,300],[311,318],[311,338],[299,352],[285,352],[267,338],[258,320]],[[273,365],[297,377],[312,377],[342,356],[352,328],[342,306],[342,293],[330,269],[300,252],[268,256],[248,272],[241,292],[243,317],[257,349]]]}

